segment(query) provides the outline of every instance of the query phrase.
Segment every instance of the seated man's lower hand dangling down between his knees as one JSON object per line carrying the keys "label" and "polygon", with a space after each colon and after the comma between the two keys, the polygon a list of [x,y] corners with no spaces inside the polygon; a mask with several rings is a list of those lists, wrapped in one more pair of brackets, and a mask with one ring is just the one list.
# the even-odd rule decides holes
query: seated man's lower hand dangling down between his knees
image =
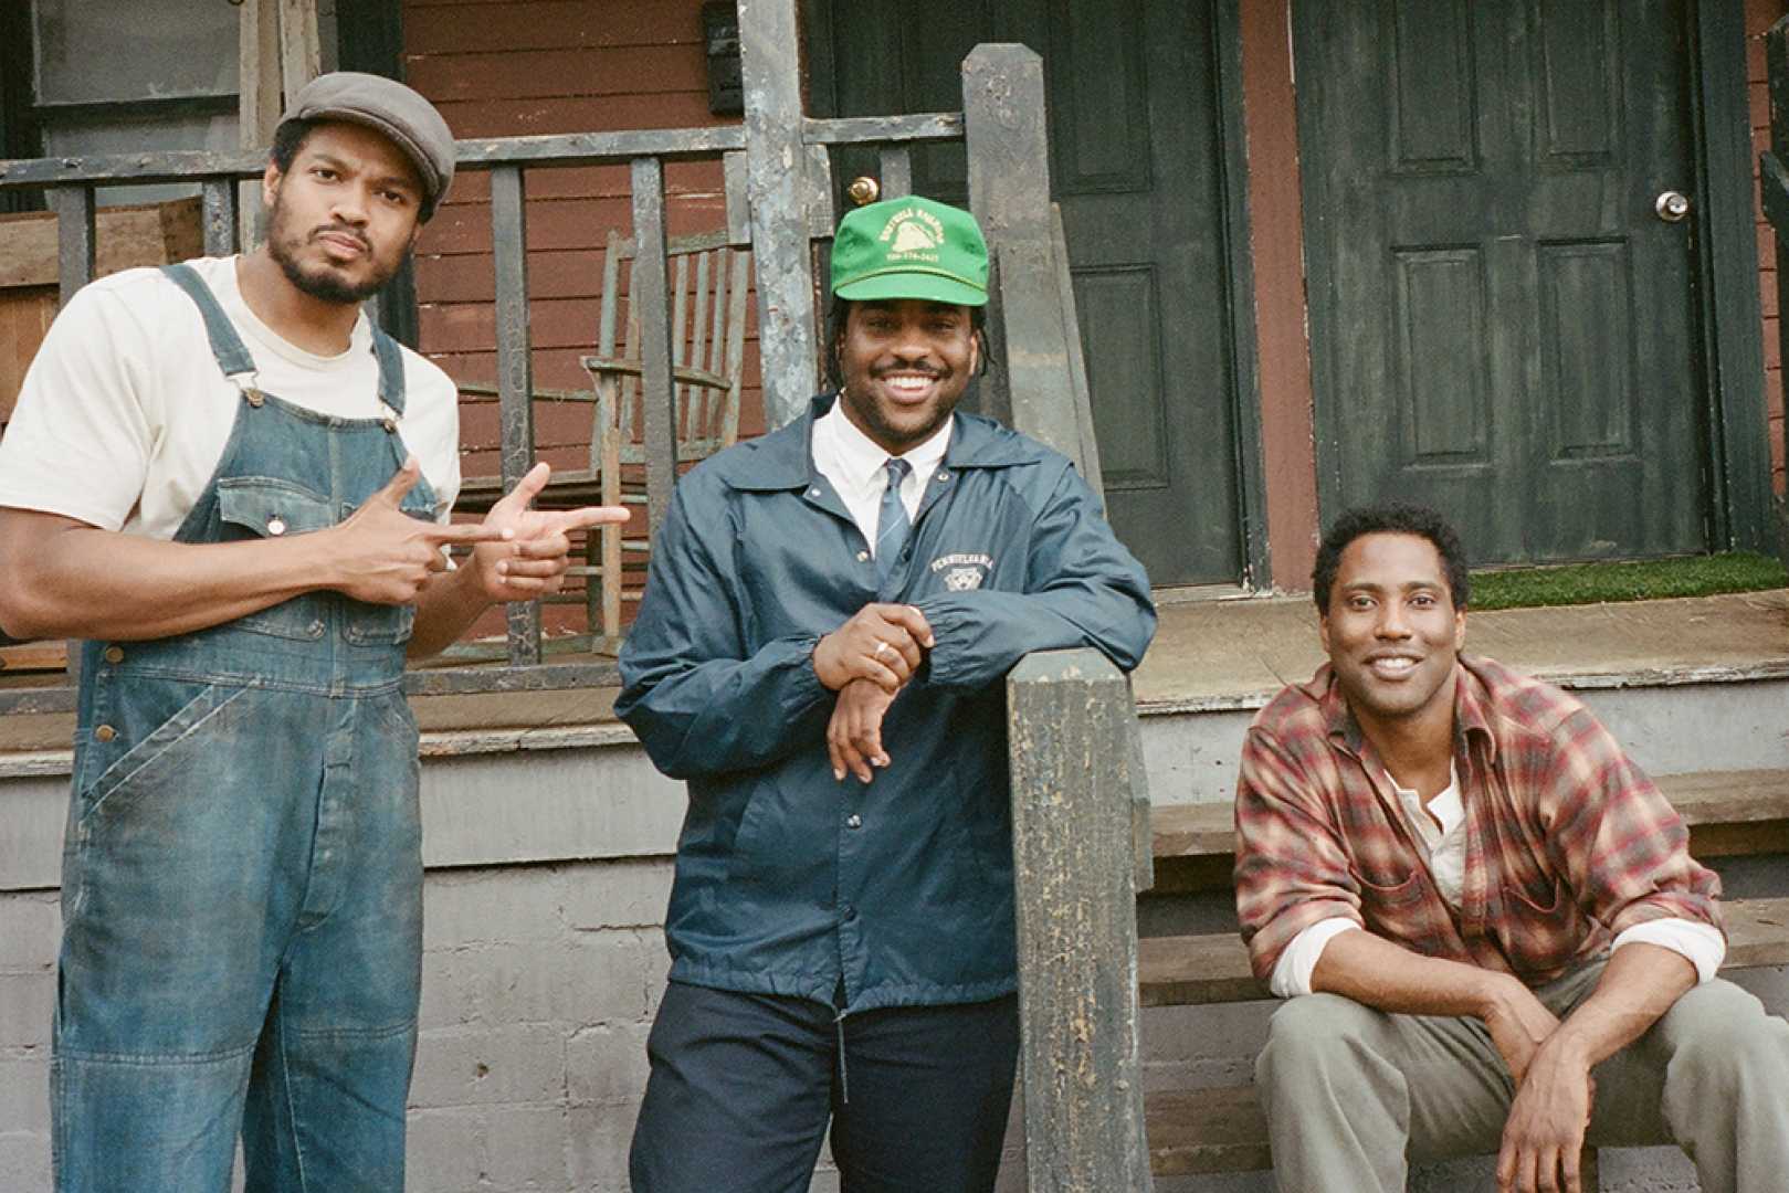
{"label": "seated man's lower hand dangling down between his knees", "polygon": [[1589,1061],[1560,1036],[1542,1045],[1503,1125],[1497,1193],[1583,1193],[1578,1159],[1594,1096]]}

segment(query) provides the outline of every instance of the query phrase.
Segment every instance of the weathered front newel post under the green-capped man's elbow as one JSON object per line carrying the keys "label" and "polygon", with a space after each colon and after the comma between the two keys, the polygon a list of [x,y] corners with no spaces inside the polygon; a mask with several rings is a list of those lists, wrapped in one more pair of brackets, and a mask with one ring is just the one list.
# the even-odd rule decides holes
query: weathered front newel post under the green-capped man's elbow
{"label": "weathered front newel post under the green-capped man's elbow", "polygon": [[1150,1189],[1138,1059],[1131,689],[1093,649],[1007,676],[1030,1193]]}

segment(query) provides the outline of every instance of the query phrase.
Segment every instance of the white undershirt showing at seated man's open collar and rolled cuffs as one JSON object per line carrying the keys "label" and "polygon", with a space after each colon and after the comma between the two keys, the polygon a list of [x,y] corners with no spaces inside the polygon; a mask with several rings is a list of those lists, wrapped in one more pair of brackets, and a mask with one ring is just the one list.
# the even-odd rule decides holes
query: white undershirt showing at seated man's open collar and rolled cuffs
{"label": "white undershirt showing at seated man's open collar and rolled cuffs", "polygon": [[[1385,778],[1397,792],[1404,817],[1415,826],[1429,853],[1429,876],[1435,880],[1435,889],[1440,891],[1449,907],[1458,910],[1460,891],[1465,884],[1465,805],[1460,801],[1458,773],[1449,766],[1447,787],[1426,807],[1422,796],[1403,787],[1390,771],[1385,773]],[[1360,925],[1347,916],[1318,919],[1306,926],[1279,953],[1267,982],[1268,989],[1281,998],[1310,994],[1311,973],[1317,969],[1318,957],[1324,955],[1324,946],[1351,928],[1360,928]],[[1721,960],[1726,959],[1726,937],[1721,935],[1719,928],[1676,916],[1648,919],[1619,932],[1610,950],[1635,943],[1658,944],[1687,957],[1696,966],[1698,982],[1712,978],[1719,971]]]}

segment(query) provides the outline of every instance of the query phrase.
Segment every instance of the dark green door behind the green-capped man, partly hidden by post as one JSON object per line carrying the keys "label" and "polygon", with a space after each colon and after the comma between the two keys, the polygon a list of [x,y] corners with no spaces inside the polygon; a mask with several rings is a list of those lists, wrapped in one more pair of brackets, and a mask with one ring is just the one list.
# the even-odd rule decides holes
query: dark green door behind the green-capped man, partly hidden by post
{"label": "dark green door behind the green-capped man, partly hidden by post", "polygon": [[[1211,4],[837,0],[810,5],[809,36],[812,104],[841,116],[961,109],[961,64],[980,41],[1043,55],[1052,197],[1113,526],[1156,585],[1234,583],[1243,547]],[[873,175],[875,159],[839,154],[834,168],[843,184]],[[914,154],[914,190],[964,202],[962,148]]]}

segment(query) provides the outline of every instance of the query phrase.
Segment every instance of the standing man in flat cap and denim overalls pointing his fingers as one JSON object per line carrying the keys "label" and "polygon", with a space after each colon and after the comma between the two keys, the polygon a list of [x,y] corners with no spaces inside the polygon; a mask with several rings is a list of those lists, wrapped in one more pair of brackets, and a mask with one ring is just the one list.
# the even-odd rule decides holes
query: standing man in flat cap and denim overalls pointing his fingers
{"label": "standing man in flat cap and denim overalls pointing his fingers", "polygon": [[[422,859],[406,655],[558,587],[531,472],[451,526],[453,381],[361,313],[454,145],[324,75],[281,120],[267,241],[129,270],[52,326],[0,444],[0,622],[86,639],[63,855],[57,1188],[404,1182]],[[449,546],[471,560],[451,569]]]}

